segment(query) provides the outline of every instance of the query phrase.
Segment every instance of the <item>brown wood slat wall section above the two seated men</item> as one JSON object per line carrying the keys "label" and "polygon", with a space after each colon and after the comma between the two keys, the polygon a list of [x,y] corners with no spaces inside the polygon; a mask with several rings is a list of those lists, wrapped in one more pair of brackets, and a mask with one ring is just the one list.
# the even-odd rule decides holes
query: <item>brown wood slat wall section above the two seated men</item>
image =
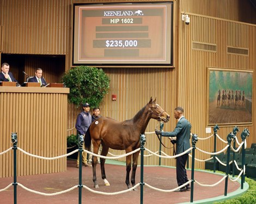
{"label": "brown wood slat wall section above the two seated men", "polygon": [[3,0],[4,53],[69,53],[70,6],[71,0]]}

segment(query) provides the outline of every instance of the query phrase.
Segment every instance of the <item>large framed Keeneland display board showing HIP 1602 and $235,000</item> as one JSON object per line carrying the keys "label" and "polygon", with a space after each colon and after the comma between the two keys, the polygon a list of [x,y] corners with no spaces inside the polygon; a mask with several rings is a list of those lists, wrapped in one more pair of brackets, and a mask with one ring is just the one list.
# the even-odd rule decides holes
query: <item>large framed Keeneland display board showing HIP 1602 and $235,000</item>
{"label": "large framed Keeneland display board showing HIP 1602 and $235,000", "polygon": [[172,65],[173,3],[74,4],[73,65]]}

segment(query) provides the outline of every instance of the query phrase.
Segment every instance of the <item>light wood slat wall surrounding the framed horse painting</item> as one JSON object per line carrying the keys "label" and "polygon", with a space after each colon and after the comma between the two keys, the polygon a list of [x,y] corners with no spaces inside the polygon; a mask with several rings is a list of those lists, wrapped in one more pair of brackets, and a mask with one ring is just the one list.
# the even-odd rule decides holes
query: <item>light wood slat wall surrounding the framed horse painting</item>
{"label": "light wood slat wall surrounding the framed horse painting", "polygon": [[[207,84],[208,67],[245,69],[255,72],[256,25],[187,14],[190,16],[190,25],[180,22],[178,104],[185,107],[186,117],[192,123],[192,132],[205,138],[211,135],[205,133],[205,128],[208,125],[208,121],[206,121],[208,114],[206,95],[209,91]],[[192,42],[216,44],[217,52],[192,49]],[[228,54],[228,46],[248,49],[249,54]],[[255,73],[253,74],[253,81],[255,83]],[[255,98],[255,86],[253,87],[253,96]],[[237,124],[240,131],[245,128],[250,131],[250,137],[247,138],[248,147],[251,143],[256,142],[254,107],[255,103],[252,112],[253,125]],[[234,126],[221,127],[218,135],[227,141],[227,135],[233,130]],[[241,132],[237,134],[237,138],[241,142],[240,134]],[[223,149],[225,145],[225,143],[218,141],[217,150]],[[210,140],[199,141],[197,147],[209,152],[213,151],[213,137]],[[197,158],[205,159],[209,157],[210,155],[197,152]],[[196,168],[204,169],[204,162],[196,162]]]}

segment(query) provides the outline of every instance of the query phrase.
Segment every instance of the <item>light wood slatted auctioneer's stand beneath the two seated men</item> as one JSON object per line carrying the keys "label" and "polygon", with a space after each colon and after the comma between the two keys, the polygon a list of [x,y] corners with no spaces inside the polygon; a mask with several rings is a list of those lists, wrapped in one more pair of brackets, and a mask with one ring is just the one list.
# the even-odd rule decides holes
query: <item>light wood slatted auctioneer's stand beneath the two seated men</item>
{"label": "light wood slatted auctioneer's stand beneath the two seated men", "polygon": [[[33,155],[66,154],[69,88],[0,86],[0,152],[17,146]],[[66,157],[42,160],[17,150],[17,175],[57,173],[66,170]],[[13,176],[13,150],[0,155],[0,178]]]}

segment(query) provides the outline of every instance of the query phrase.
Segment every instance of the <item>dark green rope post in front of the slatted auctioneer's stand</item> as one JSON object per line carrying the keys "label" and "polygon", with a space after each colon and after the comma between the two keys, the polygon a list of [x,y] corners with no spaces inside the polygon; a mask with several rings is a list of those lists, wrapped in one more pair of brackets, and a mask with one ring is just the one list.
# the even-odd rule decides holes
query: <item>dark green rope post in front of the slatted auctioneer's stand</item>
{"label": "dark green rope post in front of the slatted auctioneer's stand", "polygon": [[13,186],[14,186],[14,204],[17,203],[17,133],[11,133],[11,143],[13,143]]}

